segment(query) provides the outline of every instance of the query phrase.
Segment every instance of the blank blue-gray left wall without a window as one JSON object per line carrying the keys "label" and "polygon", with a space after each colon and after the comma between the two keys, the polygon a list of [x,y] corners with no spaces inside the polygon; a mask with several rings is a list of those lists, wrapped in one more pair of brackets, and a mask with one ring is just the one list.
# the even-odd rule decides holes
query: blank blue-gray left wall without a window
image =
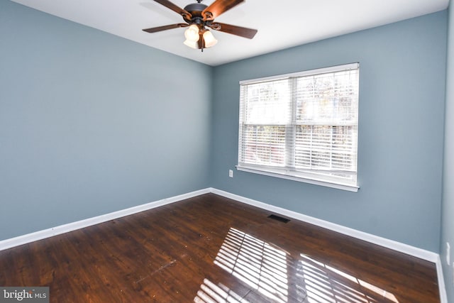
{"label": "blank blue-gray left wall without a window", "polygon": [[208,187],[212,72],[0,1],[0,240]]}

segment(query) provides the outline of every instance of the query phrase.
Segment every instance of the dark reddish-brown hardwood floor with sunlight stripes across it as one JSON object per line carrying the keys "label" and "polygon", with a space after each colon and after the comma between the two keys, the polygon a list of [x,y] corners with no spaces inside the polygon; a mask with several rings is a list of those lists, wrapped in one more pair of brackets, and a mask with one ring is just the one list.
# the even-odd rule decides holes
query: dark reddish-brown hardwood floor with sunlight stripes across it
{"label": "dark reddish-brown hardwood floor with sunlight stripes across it", "polygon": [[433,263],[215,194],[0,251],[50,302],[440,302]]}

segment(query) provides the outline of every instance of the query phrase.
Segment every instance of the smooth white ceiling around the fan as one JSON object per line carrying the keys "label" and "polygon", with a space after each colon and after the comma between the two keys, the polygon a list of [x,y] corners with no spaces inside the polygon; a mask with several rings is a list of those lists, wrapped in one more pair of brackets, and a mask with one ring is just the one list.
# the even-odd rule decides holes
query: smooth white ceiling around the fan
{"label": "smooth white ceiling around the fan", "polygon": [[[12,0],[70,21],[165,50],[221,65],[255,55],[352,33],[441,11],[449,0],[246,0],[216,21],[258,29],[252,40],[212,31],[213,48],[183,45],[185,28],[145,33],[143,28],[182,23],[182,17],[153,0]],[[195,0],[171,0],[184,8]],[[209,6],[214,0],[202,3]]]}

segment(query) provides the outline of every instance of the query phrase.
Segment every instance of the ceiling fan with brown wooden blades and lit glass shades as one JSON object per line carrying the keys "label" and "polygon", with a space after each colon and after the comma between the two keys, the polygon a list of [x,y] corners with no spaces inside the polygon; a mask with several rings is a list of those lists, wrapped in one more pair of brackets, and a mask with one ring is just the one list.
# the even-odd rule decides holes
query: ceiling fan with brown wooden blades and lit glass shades
{"label": "ceiling fan with brown wooden blades and lit glass shades", "polygon": [[157,33],[159,31],[166,31],[172,28],[185,28],[184,36],[186,40],[184,44],[190,48],[199,49],[202,52],[204,48],[211,48],[218,40],[209,31],[209,28],[215,31],[222,31],[232,35],[239,35],[240,37],[254,38],[257,30],[252,28],[243,28],[241,26],[232,26],[226,23],[215,22],[214,18],[232,9],[245,0],[215,0],[211,5],[206,6],[201,4],[202,0],[196,0],[197,3],[188,4],[184,9],[173,4],[168,0],[154,0],[159,4],[179,13],[186,23],[170,24],[168,26],[157,26],[155,28],[145,28],[142,31],[147,33]]}

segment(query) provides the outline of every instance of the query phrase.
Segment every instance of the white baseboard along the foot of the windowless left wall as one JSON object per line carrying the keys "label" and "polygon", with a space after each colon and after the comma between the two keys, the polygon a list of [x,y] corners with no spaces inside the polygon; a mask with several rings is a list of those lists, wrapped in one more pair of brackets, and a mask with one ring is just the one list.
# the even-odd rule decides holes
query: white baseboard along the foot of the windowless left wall
{"label": "white baseboard along the foot of the windowless left wall", "polygon": [[62,233],[67,233],[70,231],[75,231],[79,228],[84,228],[88,226],[92,226],[94,224],[100,224],[104,223],[106,221],[114,220],[121,218],[122,216],[129,216],[131,214],[137,214],[140,211],[146,211],[148,209],[154,209],[159,206],[167,205],[167,204],[172,204],[174,202],[178,202],[184,199],[189,199],[192,197],[199,196],[201,194],[208,194],[210,192],[210,189],[201,189],[197,190],[195,192],[189,192],[187,194],[180,194],[175,197],[170,197],[167,199],[161,199],[155,202],[150,202],[147,204],[142,204],[138,206],[133,206],[128,209],[122,209],[120,211],[114,211],[109,214],[103,214],[101,216],[94,216],[89,219],[84,219],[80,221],[75,221],[69,224],[63,224],[60,226],[55,226],[52,228],[44,229],[42,231],[36,231],[34,233],[27,233],[26,235],[23,236],[18,236],[15,238],[9,238],[3,241],[0,241],[0,250],[5,250],[8,248],[13,248],[15,246],[20,246],[26,243],[31,243],[33,241],[38,241],[42,240],[44,238],[49,238],[52,236],[57,236]]}

